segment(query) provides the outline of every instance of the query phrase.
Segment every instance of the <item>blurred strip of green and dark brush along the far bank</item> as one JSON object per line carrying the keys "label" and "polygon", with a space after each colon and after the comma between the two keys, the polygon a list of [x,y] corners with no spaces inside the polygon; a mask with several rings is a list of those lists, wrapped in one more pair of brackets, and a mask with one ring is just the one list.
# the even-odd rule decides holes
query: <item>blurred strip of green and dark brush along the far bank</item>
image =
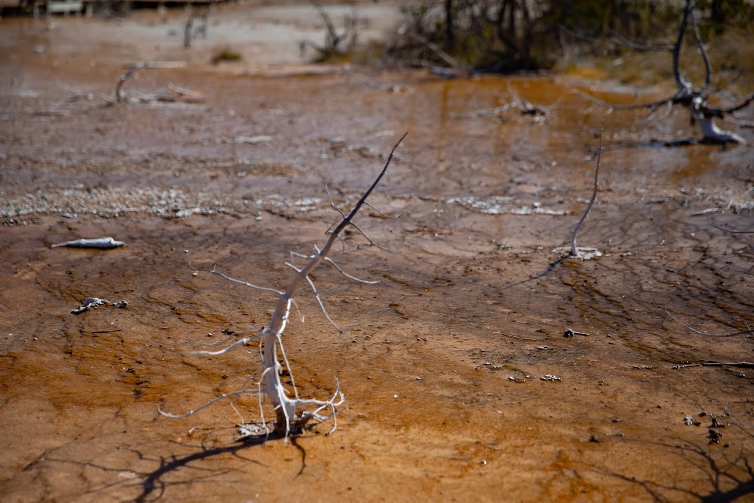
{"label": "blurred strip of green and dark brush along the far bank", "polygon": [[[606,40],[634,49],[667,42],[685,2],[677,0],[422,0],[403,8],[389,50],[400,59],[449,58],[493,72],[547,69],[566,46]],[[698,0],[700,30],[751,29],[751,0]]]}

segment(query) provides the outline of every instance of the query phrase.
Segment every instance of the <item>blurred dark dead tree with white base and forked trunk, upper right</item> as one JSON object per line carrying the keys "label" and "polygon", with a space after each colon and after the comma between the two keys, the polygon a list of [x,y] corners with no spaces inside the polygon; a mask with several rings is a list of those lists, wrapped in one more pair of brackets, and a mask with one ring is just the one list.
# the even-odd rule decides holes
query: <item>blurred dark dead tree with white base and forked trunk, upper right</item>
{"label": "blurred dark dead tree with white base and forked trunk, upper right", "polygon": [[[697,48],[699,49],[700,56],[704,63],[705,77],[702,87],[694,87],[691,81],[682,74],[680,68],[681,50],[689,26],[691,26],[691,31],[694,33],[694,41],[697,44]],[[582,96],[587,97],[587,99],[593,103],[597,103],[598,105],[605,106],[609,109],[648,109],[650,110],[651,115],[663,107],[672,109],[674,105],[685,106],[691,113],[691,121],[694,121],[699,125],[702,133],[702,138],[700,140],[701,143],[745,143],[743,138],[737,133],[720,129],[717,124],[715,124],[715,119],[725,118],[727,115],[731,115],[734,112],[744,109],[749,103],[754,101],[754,93],[743,97],[739,103],[731,106],[719,107],[710,105],[710,97],[713,97],[714,94],[714,90],[710,87],[712,82],[712,65],[710,63],[710,58],[707,57],[699,33],[699,28],[697,26],[696,16],[694,14],[694,0],[686,0],[681,25],[678,30],[678,38],[676,38],[676,43],[673,45],[673,77],[676,81],[676,94],[651,103],[621,106],[598,100],[588,94],[582,93]]]}

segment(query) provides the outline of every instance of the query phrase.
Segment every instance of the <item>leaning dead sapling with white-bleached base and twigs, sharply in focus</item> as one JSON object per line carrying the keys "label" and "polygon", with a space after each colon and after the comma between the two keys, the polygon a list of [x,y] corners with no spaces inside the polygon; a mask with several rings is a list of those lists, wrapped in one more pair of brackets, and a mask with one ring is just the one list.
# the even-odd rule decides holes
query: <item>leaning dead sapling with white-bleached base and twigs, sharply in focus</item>
{"label": "leaning dead sapling with white-bleached base and twigs, sharply in focus", "polygon": [[[159,409],[159,412],[163,416],[171,418],[191,416],[192,414],[198,412],[201,409],[204,409],[207,406],[210,406],[211,404],[219,400],[228,397],[235,397],[240,394],[251,393],[259,395],[259,411],[262,415],[262,423],[264,423],[264,413],[262,412],[262,397],[266,397],[268,402],[273,407],[276,414],[276,421],[273,431],[274,434],[284,435],[285,437],[288,437],[292,432],[300,431],[307,422],[311,421],[311,419],[314,419],[318,422],[323,422],[326,421],[326,419],[332,418],[333,429],[330,431],[330,433],[336,430],[336,407],[341,405],[345,400],[345,397],[340,391],[339,382],[337,382],[336,380],[336,391],[333,394],[333,397],[330,397],[328,400],[317,400],[314,398],[305,399],[299,397],[299,391],[296,389],[296,382],[293,379],[293,373],[291,372],[290,364],[288,363],[288,359],[285,354],[282,337],[289,321],[290,308],[293,303],[293,296],[296,294],[296,291],[302,284],[306,283],[309,285],[309,287],[311,287],[312,291],[314,292],[314,296],[317,298],[317,302],[319,303],[320,308],[323,308],[322,302],[320,301],[319,295],[317,294],[317,290],[314,288],[314,282],[310,277],[311,272],[314,271],[317,266],[323,264],[323,262],[326,262],[330,265],[333,265],[337,271],[341,272],[348,278],[355,279],[349,275],[346,275],[341,268],[339,268],[331,259],[329,259],[327,254],[333,247],[333,244],[340,239],[340,234],[346,227],[348,227],[349,225],[354,225],[355,228],[359,229],[359,227],[354,223],[354,218],[357,216],[357,213],[364,204],[368,205],[368,203],[366,203],[366,199],[369,198],[369,195],[372,194],[372,191],[379,184],[382,177],[385,176],[385,173],[388,170],[388,166],[390,165],[390,162],[393,158],[395,149],[397,149],[397,147],[403,141],[403,138],[406,137],[406,134],[404,134],[395,144],[390,152],[390,155],[388,156],[388,160],[385,162],[385,166],[382,168],[382,171],[375,178],[374,182],[372,182],[372,185],[369,186],[369,189],[366,189],[366,192],[364,192],[361,198],[359,198],[356,204],[354,204],[351,212],[346,214],[336,207],[336,210],[341,213],[342,219],[339,221],[338,225],[336,225],[335,228],[333,228],[333,230],[329,232],[329,238],[327,239],[324,246],[321,249],[314,247],[317,253],[305,256],[305,258],[309,260],[302,268],[297,268],[292,264],[288,264],[296,271],[296,275],[293,276],[286,290],[278,291],[271,288],[257,287],[256,285],[250,284],[246,281],[230,278],[222,272],[216,270],[210,271],[230,281],[244,284],[257,290],[276,293],[277,303],[275,304],[274,311],[272,312],[268,326],[263,327],[262,330],[255,333],[253,336],[238,339],[238,341],[234,342],[231,345],[228,345],[223,349],[220,349],[219,351],[198,351],[197,354],[225,354],[228,351],[231,351],[231,349],[238,348],[242,345],[247,345],[253,341],[259,341],[259,353],[262,357],[262,373],[259,376],[259,381],[257,382],[256,389],[241,388],[238,391],[232,391],[231,393],[222,394],[221,396],[216,397],[213,400],[210,400],[209,402],[204,403],[203,405],[197,407],[196,409],[190,410],[185,414],[170,414]],[[335,207],[334,204],[333,207]],[[299,254],[295,255],[302,256]],[[332,320],[330,320],[326,312],[325,316],[332,323]],[[280,357],[282,357],[285,368],[288,371],[288,376],[291,382],[290,391],[293,391],[293,397],[289,396],[289,389],[285,388],[283,382],[281,382],[280,380],[280,373],[283,370],[283,366],[278,361],[278,351],[280,351]],[[326,409],[329,409],[331,411],[329,415],[323,414],[323,411]],[[267,429],[264,428],[263,431],[267,431]]]}

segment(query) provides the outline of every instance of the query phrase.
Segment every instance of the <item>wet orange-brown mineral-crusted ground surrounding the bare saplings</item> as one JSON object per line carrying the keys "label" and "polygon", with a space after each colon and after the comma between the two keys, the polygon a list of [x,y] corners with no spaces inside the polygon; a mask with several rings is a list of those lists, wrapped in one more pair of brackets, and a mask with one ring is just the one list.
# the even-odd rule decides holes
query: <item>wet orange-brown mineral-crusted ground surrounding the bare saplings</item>
{"label": "wet orange-brown mineral-crusted ground surrounding the bare saplings", "polygon": [[[606,115],[579,235],[603,255],[543,274],[590,197],[603,116],[570,91],[655,95],[556,76],[309,75],[240,29],[244,61],[209,65],[254,15],[222,8],[189,51],[169,35],[182,13],[0,21],[3,501],[752,501],[754,370],[674,368],[754,361],[754,234],[710,225],[754,228],[750,146],[653,142],[696,134],[684,111]],[[297,54],[287,39],[272,45]],[[145,59],[188,63],[103,106]],[[201,99],[136,100],[167,84]],[[547,118],[469,115],[515,97]],[[284,338],[302,396],[339,379],[335,434],[236,443],[253,396],[159,416],[258,377],[256,347],[191,351],[265,324],[274,295],[194,269],[284,287],[288,252],[337,218],[325,184],[348,207],[404,131],[359,219],[389,250],[354,231],[333,255],[381,282],[317,270],[345,331],[302,291],[305,321]],[[102,236],[127,244],[48,247]],[[71,314],[89,296],[128,305]],[[665,309],[739,334],[694,333]]]}

